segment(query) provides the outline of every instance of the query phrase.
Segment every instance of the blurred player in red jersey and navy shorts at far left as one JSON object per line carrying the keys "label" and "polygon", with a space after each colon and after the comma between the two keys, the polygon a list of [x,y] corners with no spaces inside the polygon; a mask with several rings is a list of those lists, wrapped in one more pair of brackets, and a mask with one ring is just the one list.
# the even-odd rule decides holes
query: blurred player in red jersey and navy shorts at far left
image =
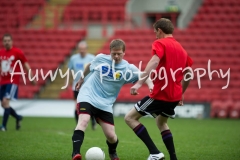
{"label": "blurred player in red jersey and navy shorts at far left", "polygon": [[[20,75],[11,76],[11,73],[13,72],[13,69],[14,72],[21,71],[19,65],[16,65],[14,68],[14,64],[18,60],[20,60],[21,64],[24,65],[27,71],[29,71],[30,66],[23,52],[20,49],[13,47],[13,40],[10,34],[5,34],[2,40],[4,49],[0,50],[0,99],[4,114],[0,129],[1,131],[6,131],[8,117],[9,115],[12,115],[16,118],[16,129],[19,130],[22,116],[18,115],[9,103],[11,99],[17,99]],[[33,83],[35,84],[36,82],[33,81]]]}

